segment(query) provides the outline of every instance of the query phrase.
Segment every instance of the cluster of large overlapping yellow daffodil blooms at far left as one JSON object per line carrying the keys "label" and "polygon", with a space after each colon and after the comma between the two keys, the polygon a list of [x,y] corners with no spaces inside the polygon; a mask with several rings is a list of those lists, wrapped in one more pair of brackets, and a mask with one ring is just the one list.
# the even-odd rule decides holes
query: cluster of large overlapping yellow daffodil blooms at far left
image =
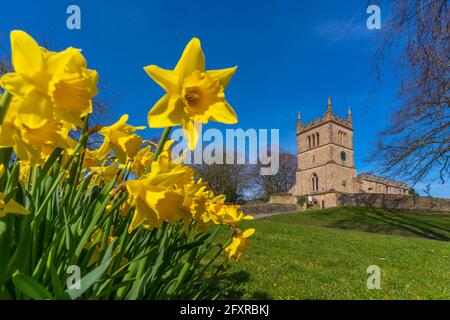
{"label": "cluster of large overlapping yellow daffodil blooms at far left", "polygon": [[87,69],[80,50],[52,52],[23,31],[11,33],[14,71],[0,85],[11,100],[2,110],[0,148],[13,147],[30,165],[42,164],[55,148],[69,149],[72,129],[92,112],[98,74]]}

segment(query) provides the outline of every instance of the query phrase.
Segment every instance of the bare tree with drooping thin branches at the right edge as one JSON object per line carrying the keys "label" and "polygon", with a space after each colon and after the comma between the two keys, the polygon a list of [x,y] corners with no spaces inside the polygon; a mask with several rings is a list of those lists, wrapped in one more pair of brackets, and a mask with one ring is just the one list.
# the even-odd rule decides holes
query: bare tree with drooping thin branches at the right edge
{"label": "bare tree with drooping thin branches at the right edge", "polygon": [[449,28],[446,0],[394,1],[377,66],[398,50],[400,105],[372,159],[413,184],[450,174]]}

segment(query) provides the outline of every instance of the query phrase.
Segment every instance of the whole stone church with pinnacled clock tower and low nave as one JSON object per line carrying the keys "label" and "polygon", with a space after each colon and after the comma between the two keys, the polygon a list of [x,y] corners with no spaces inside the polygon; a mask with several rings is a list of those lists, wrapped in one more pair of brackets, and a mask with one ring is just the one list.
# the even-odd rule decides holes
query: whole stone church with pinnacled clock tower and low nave
{"label": "whole stone church with pinnacled clock tower and low nave", "polygon": [[352,113],[347,119],[333,114],[328,98],[325,115],[308,124],[297,123],[296,183],[290,193],[309,196],[321,208],[337,205],[342,193],[408,193],[409,187],[386,178],[356,174],[353,149]]}

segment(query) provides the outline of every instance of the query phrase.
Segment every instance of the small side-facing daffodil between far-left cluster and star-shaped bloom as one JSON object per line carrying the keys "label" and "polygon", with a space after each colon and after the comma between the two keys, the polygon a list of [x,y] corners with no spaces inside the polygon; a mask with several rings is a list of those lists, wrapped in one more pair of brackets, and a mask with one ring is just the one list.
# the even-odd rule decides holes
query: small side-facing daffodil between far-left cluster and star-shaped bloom
{"label": "small side-facing daffodil between far-left cluster and star-shaped bloom", "polygon": [[105,137],[103,144],[97,150],[99,158],[105,158],[114,151],[120,163],[126,163],[127,158],[134,158],[142,145],[142,138],[134,134],[137,130],[145,129],[145,126],[133,127],[127,124],[128,115],[124,114],[119,121],[109,127],[103,127],[99,133]]}

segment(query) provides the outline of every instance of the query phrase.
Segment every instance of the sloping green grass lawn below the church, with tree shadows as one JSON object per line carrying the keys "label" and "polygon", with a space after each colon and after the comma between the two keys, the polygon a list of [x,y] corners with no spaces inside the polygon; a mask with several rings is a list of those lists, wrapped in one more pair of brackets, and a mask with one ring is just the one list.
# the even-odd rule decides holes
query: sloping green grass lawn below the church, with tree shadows
{"label": "sloping green grass lawn below the church, with tree shadows", "polygon": [[[249,221],[230,299],[450,299],[450,216],[357,207]],[[368,290],[367,267],[381,268]]]}

